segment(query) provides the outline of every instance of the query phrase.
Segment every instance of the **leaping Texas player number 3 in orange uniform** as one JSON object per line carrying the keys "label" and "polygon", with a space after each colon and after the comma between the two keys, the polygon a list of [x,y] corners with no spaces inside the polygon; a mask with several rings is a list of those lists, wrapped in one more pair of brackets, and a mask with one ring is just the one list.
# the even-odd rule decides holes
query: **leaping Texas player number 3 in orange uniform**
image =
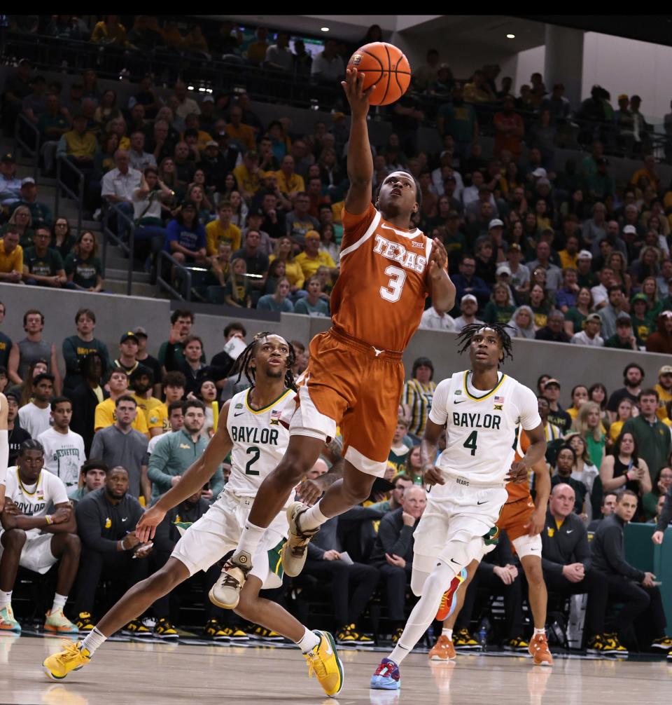
{"label": "leaping Texas player number 3 in orange uniform", "polygon": [[282,550],[287,575],[299,575],[311,537],[330,517],[364,501],[387,465],[404,385],[402,354],[420,324],[425,298],[440,311],[452,309],[455,287],[446,271],[442,243],[411,228],[420,188],[406,171],[394,171],[371,203],[373,159],[363,74],[347,71],[342,82],[351,107],[348,146],[350,189],[343,212],[340,276],[332,290],[332,327],[310,344],[308,369],[299,380],[290,443],[266,477],[234,555],[211,592],[219,606],[234,608],[251,556],[285,506],[294,486],[318,459],[325,441],[343,437],[343,477],[312,507],[287,508],[290,538]]}

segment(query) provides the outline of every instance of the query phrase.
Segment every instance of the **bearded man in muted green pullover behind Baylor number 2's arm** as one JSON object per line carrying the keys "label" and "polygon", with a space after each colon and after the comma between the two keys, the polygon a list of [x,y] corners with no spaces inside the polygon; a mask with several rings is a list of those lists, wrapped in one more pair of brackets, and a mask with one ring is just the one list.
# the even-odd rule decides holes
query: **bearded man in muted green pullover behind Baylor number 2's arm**
{"label": "bearded man in muted green pullover behind Baylor number 2's arm", "polygon": [[[180,482],[189,465],[203,455],[208,440],[201,436],[205,424],[205,406],[199,400],[187,400],[184,426],[180,431],[163,434],[149,456],[148,476],[151,480],[152,503]],[[211,479],[211,489],[204,498],[215,499],[224,487],[224,475],[218,467]]]}

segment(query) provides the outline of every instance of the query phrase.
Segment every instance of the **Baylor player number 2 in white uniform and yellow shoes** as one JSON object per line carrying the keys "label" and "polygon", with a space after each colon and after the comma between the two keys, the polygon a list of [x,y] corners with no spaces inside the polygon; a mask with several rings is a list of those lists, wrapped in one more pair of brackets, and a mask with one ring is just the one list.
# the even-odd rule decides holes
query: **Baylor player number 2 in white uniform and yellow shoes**
{"label": "Baylor player number 2 in white uniform and yellow shoes", "polygon": [[[161,570],[127,591],[82,642],[46,658],[43,666],[49,678],[62,680],[71,670],[85,666],[107,637],[190,575],[207,570],[236,547],[259,485],[287,449],[290,432],[280,423],[280,417],[285,406],[294,408],[296,393],[291,372],[293,349],[281,336],[259,333],[237,364],[240,374],[246,374],[254,386],[225,403],[217,432],[204,454],[140,518],[137,538],[143,543],[153,538],[166,512],[197,493],[231,451],[231,475],[224,491],[208,512],[187,529]],[[291,501],[293,496],[287,503]],[[254,553],[254,568],[241,591],[236,611],[244,619],[292,639],[306,658],[309,675],[315,673],[325,693],[333,696],[343,685],[343,667],[332,636],[328,632],[311,632],[280,605],[259,597],[262,587],[279,587],[282,582],[280,550],[288,529],[283,508]],[[210,596],[219,604],[215,588]]]}

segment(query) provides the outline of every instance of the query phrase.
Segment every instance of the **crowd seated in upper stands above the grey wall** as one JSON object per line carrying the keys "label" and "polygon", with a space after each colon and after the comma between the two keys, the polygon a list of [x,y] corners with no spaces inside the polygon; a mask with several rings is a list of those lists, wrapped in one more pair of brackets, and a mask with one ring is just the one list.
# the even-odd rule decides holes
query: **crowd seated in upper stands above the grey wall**
{"label": "crowd seated in upper stands above the grey wall", "polygon": [[[174,45],[175,23],[161,28],[155,20],[138,18],[138,34],[107,16],[91,41],[125,46],[147,33]],[[54,23],[80,27],[67,17]],[[260,28],[244,48],[230,23],[217,36],[226,53],[279,70],[301,55],[284,32],[273,44]],[[367,39],[377,38],[372,27]],[[197,43],[208,51],[203,42]],[[321,66],[318,75],[337,85],[350,49],[328,40],[313,68]],[[459,330],[473,316],[474,297],[476,319],[510,321],[521,337],[671,351],[672,190],[645,139],[640,100],[620,96],[614,111],[599,89],[570,106],[562,85],[549,92],[539,73],[514,96],[511,80],[498,73],[485,66],[460,82],[430,50],[415,67],[412,90],[382,114],[393,132],[373,145],[374,188],[395,169],[413,174],[422,195],[413,224],[444,242],[458,290],[452,312],[437,312],[428,301],[423,326]],[[194,300],[327,316],[349,183],[344,115],[335,112],[330,124],[317,120],[310,133],[297,134],[289,118],[264,124],[245,93],[193,93],[182,80],[161,93],[147,75],[120,104],[88,69],[64,94],[23,61],[6,81],[5,119],[23,114],[37,125],[46,173],[56,157],[75,164],[86,178],[85,209],[111,209],[122,239],[132,221],[138,262],[173,277],[183,294],[179,269],[157,265],[161,250],[192,268]],[[423,107],[428,96],[433,113]],[[417,147],[418,125],[430,114],[442,142],[435,153]],[[590,131],[581,123],[581,134],[590,132],[580,140],[588,152],[560,164],[556,149],[571,120],[582,116],[598,125]],[[486,121],[494,131],[489,158],[479,137]],[[613,151],[608,123],[618,126],[616,142],[641,160],[628,180],[614,178],[605,156]],[[53,222],[39,184],[16,178],[13,161],[11,153],[0,161],[2,280],[102,290],[95,238],[70,235],[64,219]],[[66,166],[62,178],[74,186]]]}

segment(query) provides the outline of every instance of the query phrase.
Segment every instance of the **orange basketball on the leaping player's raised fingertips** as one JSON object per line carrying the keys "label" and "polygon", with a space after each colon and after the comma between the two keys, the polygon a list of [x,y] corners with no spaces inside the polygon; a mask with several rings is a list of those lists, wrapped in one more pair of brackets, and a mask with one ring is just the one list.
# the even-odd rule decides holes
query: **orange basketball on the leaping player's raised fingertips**
{"label": "orange basketball on the leaping player's raised fingertips", "polygon": [[389,105],[399,100],[411,83],[411,66],[401,49],[387,42],[371,42],[350,57],[348,68],[364,74],[364,90],[375,85],[368,97],[371,105]]}

